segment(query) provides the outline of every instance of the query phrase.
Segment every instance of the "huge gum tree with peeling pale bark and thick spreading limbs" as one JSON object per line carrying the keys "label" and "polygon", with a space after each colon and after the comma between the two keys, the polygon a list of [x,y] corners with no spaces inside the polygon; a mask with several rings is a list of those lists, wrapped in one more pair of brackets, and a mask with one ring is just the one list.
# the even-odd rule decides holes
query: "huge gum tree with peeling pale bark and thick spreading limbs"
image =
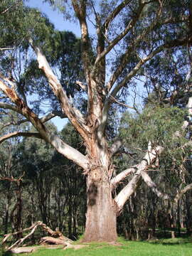
{"label": "huge gum tree with peeling pale bark and thick spreading limbs", "polygon": [[[50,4],[57,4],[56,2],[50,1]],[[65,6],[66,1],[60,3]],[[18,112],[23,116],[23,122],[31,122],[37,132],[18,130],[4,134],[0,137],[0,143],[16,136],[37,137],[44,139],[60,154],[78,164],[83,169],[82,174],[87,176],[87,220],[84,239],[114,241],[117,239],[117,215],[122,212],[124,203],[136,191],[142,178],[160,197],[166,199],[168,196],[162,195],[147,174],[147,169],[164,151],[161,145],[153,148],[149,142],[146,154],[139,164],[114,176],[113,156],[119,151],[122,143],[117,139],[110,146],[107,141],[106,126],[110,107],[117,95],[132,84],[134,77],[154,56],[178,46],[191,46],[191,1],[183,1],[182,4],[180,1],[160,0],[101,1],[100,8],[96,1],[94,3],[88,0],[71,0],[67,1],[67,4],[70,10],[73,9],[80,24],[85,82],[77,81],[77,84],[87,95],[85,114],[71,102],[32,32],[28,42],[36,53],[38,68],[43,71],[50,89],[58,99],[60,109],[82,137],[86,155],[51,133],[45,122],[55,115],[38,117],[38,114],[28,107],[22,95],[18,94],[14,82],[3,73],[0,77],[0,90],[2,95],[4,94],[1,97],[1,109]],[[95,26],[94,41],[87,25],[90,19]],[[110,62],[112,51],[119,52],[115,62]],[[110,66],[112,63],[114,65],[110,75],[106,75],[110,69],[108,63]],[[190,111],[191,105],[189,98]],[[183,124],[183,129],[187,126],[188,123]],[[129,183],[113,197],[114,188],[130,174],[132,178]],[[191,185],[185,189],[191,189]],[[183,188],[181,193],[186,191]]]}

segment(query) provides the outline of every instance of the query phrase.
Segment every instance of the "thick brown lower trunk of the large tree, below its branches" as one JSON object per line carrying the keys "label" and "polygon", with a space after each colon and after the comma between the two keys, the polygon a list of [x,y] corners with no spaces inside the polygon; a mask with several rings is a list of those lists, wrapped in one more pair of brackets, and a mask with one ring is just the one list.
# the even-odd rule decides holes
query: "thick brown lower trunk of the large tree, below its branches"
{"label": "thick brown lower trunk of the large tree, below its branches", "polygon": [[87,213],[84,238],[87,242],[112,242],[117,239],[117,210],[112,199],[110,183],[106,181],[103,172],[93,170],[87,176]]}

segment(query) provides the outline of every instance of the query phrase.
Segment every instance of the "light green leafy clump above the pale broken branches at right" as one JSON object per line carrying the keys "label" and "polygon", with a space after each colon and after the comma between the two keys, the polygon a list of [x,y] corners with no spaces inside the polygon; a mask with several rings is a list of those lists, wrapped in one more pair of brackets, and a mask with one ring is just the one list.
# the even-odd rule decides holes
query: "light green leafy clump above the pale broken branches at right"
{"label": "light green leafy clump above the pale broken branches at right", "polygon": [[[122,118],[122,137],[127,142],[141,144],[146,149],[149,141],[154,145],[174,146],[181,143],[181,137],[174,136],[176,132],[182,134],[181,123],[186,112],[178,107],[146,107],[142,114],[127,112]],[[180,128],[179,128],[180,127]]]}

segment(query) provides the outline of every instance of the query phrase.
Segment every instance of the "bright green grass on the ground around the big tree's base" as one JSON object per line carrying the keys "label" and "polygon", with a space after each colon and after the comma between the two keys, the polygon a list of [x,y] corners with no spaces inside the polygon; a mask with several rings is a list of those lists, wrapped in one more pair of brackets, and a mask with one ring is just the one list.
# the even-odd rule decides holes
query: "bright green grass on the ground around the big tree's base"
{"label": "bright green grass on the ground around the big tree's base", "polygon": [[[79,250],[44,249],[40,248],[31,256],[191,256],[192,238],[161,239],[155,241],[126,241],[119,238],[119,245],[89,243]],[[75,242],[78,244],[78,242]],[[3,256],[10,256],[3,254]],[[24,256],[24,255],[23,255]]]}

